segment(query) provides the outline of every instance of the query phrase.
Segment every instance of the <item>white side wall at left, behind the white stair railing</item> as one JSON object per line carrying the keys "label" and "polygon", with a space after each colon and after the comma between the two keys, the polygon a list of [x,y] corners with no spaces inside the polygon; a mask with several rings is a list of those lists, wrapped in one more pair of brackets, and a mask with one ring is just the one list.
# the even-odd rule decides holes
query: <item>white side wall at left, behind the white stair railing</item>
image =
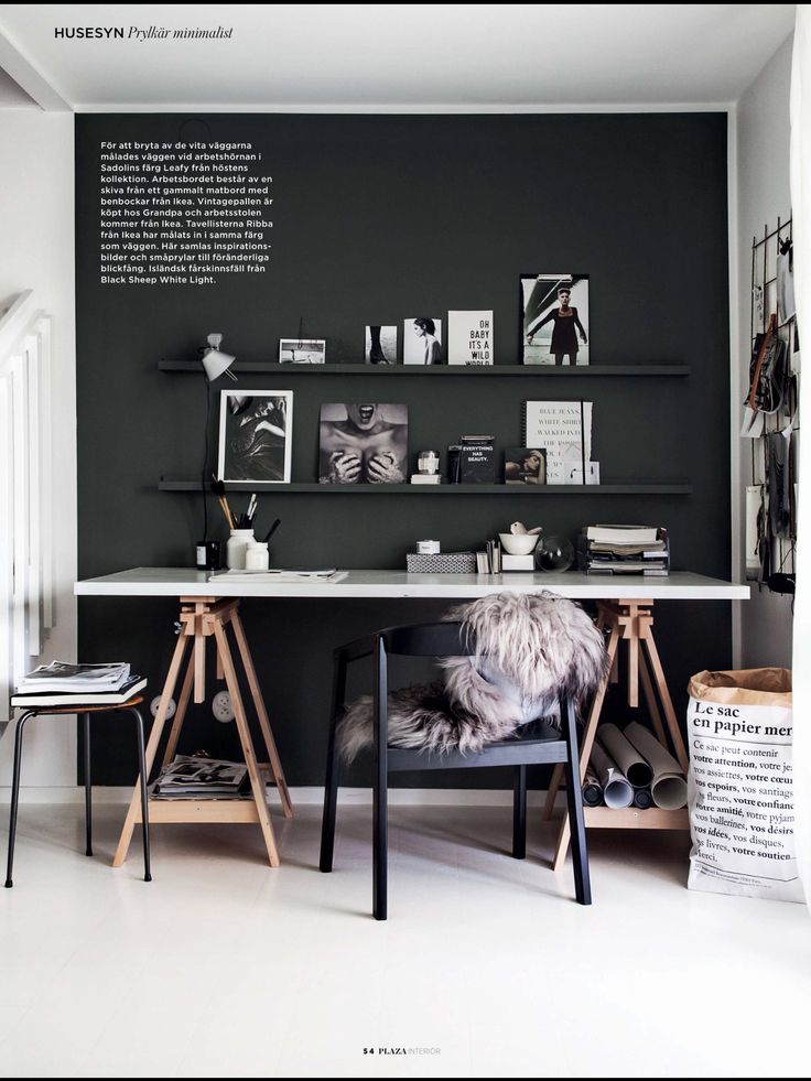
{"label": "white side wall at left, behind the white stair railing", "polygon": [[[56,626],[45,659],[76,656],[76,345],[74,123],[72,113],[0,109],[0,306],[23,289],[53,318]],[[2,525],[0,523],[0,528]],[[76,783],[75,723],[32,721],[23,783]],[[0,737],[0,783],[10,783],[11,726]]]}

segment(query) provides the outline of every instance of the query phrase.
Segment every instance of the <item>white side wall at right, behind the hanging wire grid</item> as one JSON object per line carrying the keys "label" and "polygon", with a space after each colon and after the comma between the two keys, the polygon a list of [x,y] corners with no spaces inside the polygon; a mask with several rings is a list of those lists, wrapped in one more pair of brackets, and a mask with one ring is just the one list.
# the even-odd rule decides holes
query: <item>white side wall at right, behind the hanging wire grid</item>
{"label": "white side wall at right, behind the hanging wire grid", "polygon": [[[789,86],[791,43],[777,51],[737,105],[737,245],[738,245],[738,357],[733,357],[733,431],[740,425],[740,403],[746,396],[749,365],[749,284],[751,239],[763,237],[777,218],[791,214],[789,194]],[[736,408],[737,406],[737,408]],[[737,454],[735,451],[737,448]],[[748,440],[733,440],[733,483],[743,501],[746,484],[751,483],[751,448]],[[737,479],[736,479],[737,477]],[[743,514],[737,515],[743,552]],[[735,571],[735,569],[733,569]],[[744,577],[743,562],[738,569]],[[751,601],[740,610],[740,666],[791,668],[791,598],[758,593],[753,583]]]}

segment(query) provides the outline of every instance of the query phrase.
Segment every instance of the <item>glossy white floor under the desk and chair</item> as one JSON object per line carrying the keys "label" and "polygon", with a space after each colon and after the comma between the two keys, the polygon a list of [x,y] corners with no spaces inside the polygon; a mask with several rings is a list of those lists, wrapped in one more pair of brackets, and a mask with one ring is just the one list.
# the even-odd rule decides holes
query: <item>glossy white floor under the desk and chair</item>
{"label": "glossy white floor under the desk and chair", "polygon": [[137,844],[109,866],[122,809],[97,808],[95,860],[82,814],[21,808],[2,1077],[808,1072],[805,909],[689,893],[684,834],[592,832],[582,908],[539,824],[519,862],[507,808],[393,808],[377,923],[369,808],[339,810],[332,875],[315,807],[275,815],[277,871],[252,826],[156,826],[151,884]]}

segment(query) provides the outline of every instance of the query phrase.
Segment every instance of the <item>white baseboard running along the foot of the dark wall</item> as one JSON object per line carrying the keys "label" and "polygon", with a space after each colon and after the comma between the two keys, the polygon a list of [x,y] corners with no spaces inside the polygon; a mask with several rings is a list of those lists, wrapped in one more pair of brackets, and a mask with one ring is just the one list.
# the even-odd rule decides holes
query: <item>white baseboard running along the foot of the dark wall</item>
{"label": "white baseboard running along the foot of the dark wall", "polygon": [[[131,788],[113,786],[96,786],[93,790],[94,803],[127,803],[132,796]],[[293,804],[299,803],[321,806],[324,802],[324,789],[320,786],[302,786],[290,789]],[[11,799],[9,786],[0,787],[0,802],[8,804]],[[279,803],[275,789],[268,789],[271,803]],[[355,807],[371,803],[370,788],[342,788],[340,802]],[[530,807],[539,807],[547,799],[544,791],[530,791],[527,802]],[[21,803],[84,803],[85,790],[80,786],[69,788],[35,788],[33,786],[20,789]],[[507,789],[475,789],[475,788],[390,788],[389,803],[392,807],[510,807],[512,792]]]}

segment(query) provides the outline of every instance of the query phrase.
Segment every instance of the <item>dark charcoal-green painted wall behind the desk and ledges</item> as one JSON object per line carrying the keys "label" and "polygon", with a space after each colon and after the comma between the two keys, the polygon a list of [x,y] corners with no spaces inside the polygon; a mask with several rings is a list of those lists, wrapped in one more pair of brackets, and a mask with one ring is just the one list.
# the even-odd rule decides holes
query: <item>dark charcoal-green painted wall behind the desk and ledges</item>
{"label": "dark charcoal-green painted wall behind the desk and ledges", "polygon": [[[185,119],[76,118],[80,576],[193,561],[199,497],[159,493],[158,482],[199,471],[204,388],[199,377],[160,372],[161,357],[193,359],[218,329],[240,360],[267,360],[303,318],[307,334],[327,339],[329,360],[360,360],[366,323],[401,327],[418,314],[493,309],[496,361],[513,364],[519,275],[559,270],[591,274],[592,364],[681,363],[691,375],[376,378],[283,368],[251,376],[253,387],[294,391],[293,479],[315,479],[323,401],[407,402],[417,451],[483,430],[500,447],[517,445],[522,399],[584,397],[595,403],[593,456],[604,479],[686,479],[693,494],[273,491],[262,497],[261,516],[283,519],[274,561],[401,567],[418,537],[467,548],[516,518],[572,537],[591,521],[650,521],[669,527],[675,567],[728,575],[725,115],[206,116],[212,139],[251,141],[273,174],[269,273],[210,288],[98,284],[99,143],[176,141]],[[214,445],[216,408],[212,415]],[[292,783],[322,779],[332,647],[441,607],[246,604]],[[729,663],[728,606],[669,603],[658,613],[681,709],[691,672]],[[173,617],[165,602],[83,601],[82,656],[129,658],[158,693]],[[97,744],[98,780],[128,781],[129,732],[118,742],[107,736]],[[181,749],[197,747],[238,756],[233,726],[204,711]]]}

